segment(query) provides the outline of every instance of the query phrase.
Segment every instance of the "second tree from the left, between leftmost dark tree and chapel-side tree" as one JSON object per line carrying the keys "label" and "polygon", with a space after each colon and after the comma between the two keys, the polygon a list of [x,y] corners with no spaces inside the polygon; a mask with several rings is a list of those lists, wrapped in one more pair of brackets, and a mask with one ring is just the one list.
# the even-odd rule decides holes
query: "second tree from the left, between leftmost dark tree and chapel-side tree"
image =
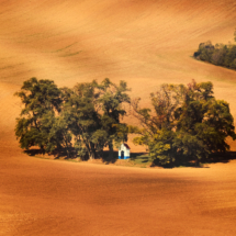
{"label": "second tree from the left, between leftmost dark tree and chapel-side tree", "polygon": [[100,114],[95,110],[95,81],[78,83],[64,108],[69,114],[68,125],[74,134],[75,147],[81,157],[94,158],[103,149],[105,138],[101,130]]}

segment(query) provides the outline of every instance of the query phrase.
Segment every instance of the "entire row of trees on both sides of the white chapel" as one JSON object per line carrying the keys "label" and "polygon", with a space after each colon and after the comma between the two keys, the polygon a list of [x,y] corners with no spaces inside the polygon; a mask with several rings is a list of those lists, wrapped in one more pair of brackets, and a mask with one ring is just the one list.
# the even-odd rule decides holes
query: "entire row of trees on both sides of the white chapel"
{"label": "entire row of trees on both sides of the white chapel", "polygon": [[[15,93],[23,103],[15,126],[21,148],[37,146],[43,153],[64,150],[67,157],[93,159],[108,147],[112,158],[114,145],[133,133],[133,142],[145,145],[160,165],[199,165],[211,154],[228,150],[227,136],[236,137],[229,105],[214,98],[211,82],[162,85],[150,94],[149,108],[142,108],[141,99],[131,100],[128,91],[125,81],[116,86],[109,79],[72,89],[57,88],[52,80],[25,81]],[[139,126],[122,122],[127,108]]]}

